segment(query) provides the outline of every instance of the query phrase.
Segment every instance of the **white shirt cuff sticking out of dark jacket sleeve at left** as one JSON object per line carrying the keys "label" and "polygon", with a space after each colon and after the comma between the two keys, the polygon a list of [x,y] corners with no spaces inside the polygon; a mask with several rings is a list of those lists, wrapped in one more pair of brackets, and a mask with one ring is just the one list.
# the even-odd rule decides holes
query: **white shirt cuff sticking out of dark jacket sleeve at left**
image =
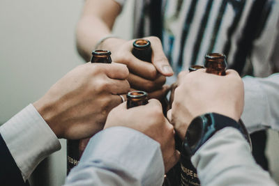
{"label": "white shirt cuff sticking out of dark jacket sleeve at left", "polygon": [[29,104],[0,127],[0,133],[25,180],[48,155],[61,148],[38,111]]}

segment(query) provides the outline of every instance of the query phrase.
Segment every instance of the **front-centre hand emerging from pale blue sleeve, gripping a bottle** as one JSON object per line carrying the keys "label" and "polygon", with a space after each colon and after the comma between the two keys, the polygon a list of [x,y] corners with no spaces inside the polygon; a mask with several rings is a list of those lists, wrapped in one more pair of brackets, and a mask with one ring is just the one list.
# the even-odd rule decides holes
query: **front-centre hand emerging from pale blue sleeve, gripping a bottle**
{"label": "front-centre hand emerging from pale blue sleeve, gripping a bottle", "polygon": [[152,99],[146,105],[130,109],[126,109],[126,102],[123,102],[110,111],[104,128],[114,126],[130,127],[158,141],[166,172],[179,160],[179,152],[174,147],[174,127],[164,117],[158,100]]}

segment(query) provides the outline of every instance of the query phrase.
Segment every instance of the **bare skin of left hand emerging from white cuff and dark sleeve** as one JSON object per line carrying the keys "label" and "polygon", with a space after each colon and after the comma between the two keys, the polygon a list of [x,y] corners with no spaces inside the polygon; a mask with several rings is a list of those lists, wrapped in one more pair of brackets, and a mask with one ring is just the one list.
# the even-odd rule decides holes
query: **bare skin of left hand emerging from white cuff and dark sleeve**
{"label": "bare skin of left hand emerging from white cuff and dark sleeve", "polygon": [[68,72],[33,103],[58,138],[82,139],[103,129],[130,86],[126,65],[86,63]]}

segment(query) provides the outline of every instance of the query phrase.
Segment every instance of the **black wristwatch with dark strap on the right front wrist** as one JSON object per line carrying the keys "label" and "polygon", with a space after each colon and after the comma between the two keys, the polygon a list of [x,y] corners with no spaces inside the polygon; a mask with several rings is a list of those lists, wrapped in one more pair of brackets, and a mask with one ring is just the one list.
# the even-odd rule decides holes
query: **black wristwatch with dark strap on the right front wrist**
{"label": "black wristwatch with dark strap on the right front wrist", "polygon": [[250,136],[243,123],[237,123],[221,114],[209,113],[197,116],[190,123],[183,141],[183,154],[191,157],[213,134],[224,127],[236,128],[250,143]]}

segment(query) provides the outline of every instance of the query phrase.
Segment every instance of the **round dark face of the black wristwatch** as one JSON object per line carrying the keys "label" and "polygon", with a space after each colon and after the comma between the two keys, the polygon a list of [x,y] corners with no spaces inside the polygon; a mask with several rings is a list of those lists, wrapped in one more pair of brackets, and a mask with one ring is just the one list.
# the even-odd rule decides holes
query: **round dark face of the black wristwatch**
{"label": "round dark face of the black wristwatch", "polygon": [[203,121],[202,118],[195,118],[192,123],[189,125],[186,132],[186,140],[190,148],[195,148],[202,138],[202,127]]}

